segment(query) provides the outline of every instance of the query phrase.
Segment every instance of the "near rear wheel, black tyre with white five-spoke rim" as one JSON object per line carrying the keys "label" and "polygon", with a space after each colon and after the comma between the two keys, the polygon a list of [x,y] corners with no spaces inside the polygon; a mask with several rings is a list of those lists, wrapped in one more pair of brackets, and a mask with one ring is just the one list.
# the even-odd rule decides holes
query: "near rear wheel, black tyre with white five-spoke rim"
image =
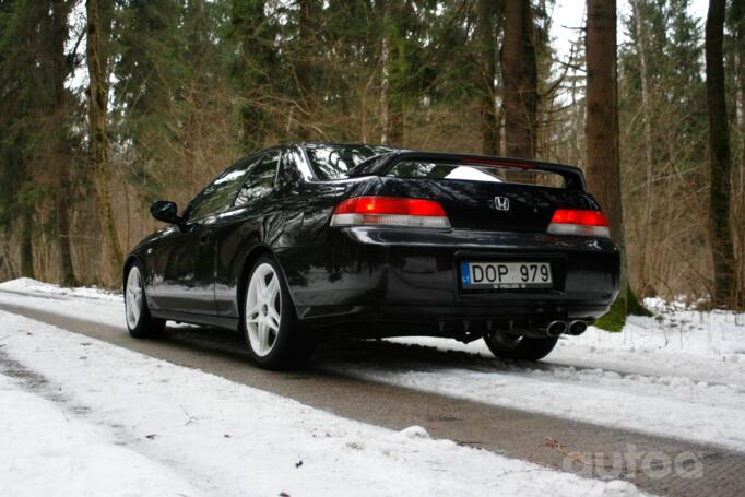
{"label": "near rear wheel, black tyre with white five-spoke rim", "polygon": [[264,369],[305,365],[312,353],[312,335],[299,326],[287,284],[274,259],[259,257],[246,275],[244,288],[240,329],[253,360]]}

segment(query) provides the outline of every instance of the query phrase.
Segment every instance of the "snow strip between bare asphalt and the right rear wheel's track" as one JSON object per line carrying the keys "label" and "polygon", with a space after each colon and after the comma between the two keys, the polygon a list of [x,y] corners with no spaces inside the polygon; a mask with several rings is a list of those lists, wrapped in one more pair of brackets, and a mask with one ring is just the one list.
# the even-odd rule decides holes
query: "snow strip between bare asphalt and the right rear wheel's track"
{"label": "snow strip between bare asphalt and the right rear wheel's track", "polygon": [[422,369],[338,364],[362,379],[745,451],[745,391],[677,377],[573,367]]}

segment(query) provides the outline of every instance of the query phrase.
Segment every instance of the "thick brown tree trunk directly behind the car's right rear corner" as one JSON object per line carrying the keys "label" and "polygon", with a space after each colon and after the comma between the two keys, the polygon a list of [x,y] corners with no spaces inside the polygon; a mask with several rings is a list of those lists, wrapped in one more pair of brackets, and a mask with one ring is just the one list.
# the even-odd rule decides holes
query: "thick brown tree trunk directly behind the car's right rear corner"
{"label": "thick brown tree trunk directly behind the car's right rear corner", "polygon": [[587,141],[588,189],[608,218],[613,240],[620,250],[620,284],[611,311],[599,326],[620,331],[628,307],[628,269],[624,242],[618,149],[618,88],[616,73],[616,2],[588,0],[587,20]]}

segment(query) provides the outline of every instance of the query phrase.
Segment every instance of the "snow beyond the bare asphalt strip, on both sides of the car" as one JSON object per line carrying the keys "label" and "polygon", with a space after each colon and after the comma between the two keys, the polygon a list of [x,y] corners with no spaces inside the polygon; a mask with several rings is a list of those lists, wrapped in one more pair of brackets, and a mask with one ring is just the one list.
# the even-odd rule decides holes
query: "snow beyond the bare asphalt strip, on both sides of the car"
{"label": "snow beyond the bare asphalt strip, on both sides of the car", "polygon": [[[121,301],[74,297],[74,291],[26,282],[26,295],[0,301],[49,305],[54,312],[121,324]],[[494,359],[482,341],[395,339],[428,350],[461,351],[458,362],[322,359],[347,375],[450,397],[676,437],[745,451],[745,315],[699,312],[650,301],[660,313],[632,317],[622,333],[590,328],[564,338],[542,363]],[[121,324],[123,326],[123,324]],[[343,360],[343,359],[341,359]]]}

